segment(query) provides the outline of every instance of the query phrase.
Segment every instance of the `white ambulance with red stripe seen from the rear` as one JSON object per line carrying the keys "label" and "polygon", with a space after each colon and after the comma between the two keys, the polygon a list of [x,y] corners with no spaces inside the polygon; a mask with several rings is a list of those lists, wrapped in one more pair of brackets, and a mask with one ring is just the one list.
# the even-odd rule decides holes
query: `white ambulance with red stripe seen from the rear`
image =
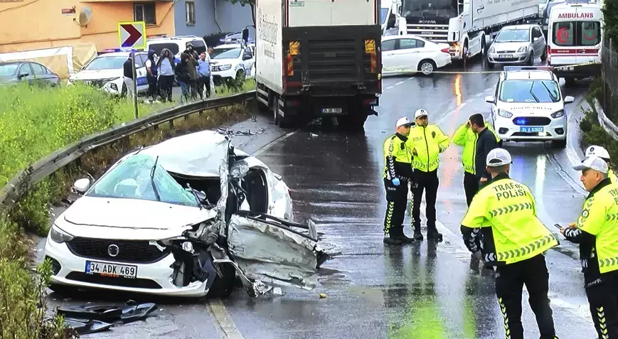
{"label": "white ambulance with red stripe seen from the rear", "polygon": [[570,1],[554,6],[548,27],[548,65],[591,65],[554,69],[567,85],[575,79],[600,75],[603,36],[601,5],[595,2],[574,4]]}

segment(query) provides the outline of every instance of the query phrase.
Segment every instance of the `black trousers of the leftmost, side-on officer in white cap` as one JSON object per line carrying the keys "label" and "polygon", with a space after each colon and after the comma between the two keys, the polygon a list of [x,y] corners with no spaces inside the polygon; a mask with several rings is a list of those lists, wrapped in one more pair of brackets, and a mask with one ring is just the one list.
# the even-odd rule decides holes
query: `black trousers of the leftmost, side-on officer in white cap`
{"label": "black trousers of the leftmost, side-on officer in white cap", "polygon": [[399,185],[393,185],[393,181],[384,178],[386,189],[386,215],[384,216],[384,234],[390,237],[403,235],[403,219],[407,206],[408,181],[400,179]]}

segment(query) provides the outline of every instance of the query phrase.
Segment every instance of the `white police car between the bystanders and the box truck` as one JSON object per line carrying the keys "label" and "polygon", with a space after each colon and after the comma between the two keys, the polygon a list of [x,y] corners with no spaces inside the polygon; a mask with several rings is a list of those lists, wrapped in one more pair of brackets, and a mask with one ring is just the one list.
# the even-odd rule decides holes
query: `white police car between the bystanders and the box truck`
{"label": "white police car between the bystanders and the box truck", "polygon": [[[253,47],[253,48],[252,48]],[[211,71],[215,85],[255,77],[255,44],[228,43],[213,48]]]}

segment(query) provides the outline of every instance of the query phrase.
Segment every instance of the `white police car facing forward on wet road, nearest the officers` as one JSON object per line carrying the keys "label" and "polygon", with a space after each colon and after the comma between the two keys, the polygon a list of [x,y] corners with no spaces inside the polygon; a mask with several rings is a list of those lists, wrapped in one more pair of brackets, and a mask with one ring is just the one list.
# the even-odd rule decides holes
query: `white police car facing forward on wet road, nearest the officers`
{"label": "white police car facing forward on wet road, nearest the officers", "polygon": [[558,77],[550,67],[506,66],[494,95],[485,97],[485,101],[491,104],[491,124],[500,139],[553,141],[553,146],[566,146],[565,104],[575,98],[563,97]]}

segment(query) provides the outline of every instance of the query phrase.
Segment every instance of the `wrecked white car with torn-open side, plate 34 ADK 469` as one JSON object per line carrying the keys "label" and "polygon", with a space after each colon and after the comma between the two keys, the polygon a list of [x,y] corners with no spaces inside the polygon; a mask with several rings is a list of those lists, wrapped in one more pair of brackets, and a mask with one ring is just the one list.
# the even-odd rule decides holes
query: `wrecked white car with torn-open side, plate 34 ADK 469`
{"label": "wrecked white car with torn-open side, plate 34 ADK 469", "polygon": [[51,227],[51,289],[110,289],[165,296],[228,296],[313,289],[327,258],[315,225],[292,221],[282,178],[215,131],[134,151]]}

